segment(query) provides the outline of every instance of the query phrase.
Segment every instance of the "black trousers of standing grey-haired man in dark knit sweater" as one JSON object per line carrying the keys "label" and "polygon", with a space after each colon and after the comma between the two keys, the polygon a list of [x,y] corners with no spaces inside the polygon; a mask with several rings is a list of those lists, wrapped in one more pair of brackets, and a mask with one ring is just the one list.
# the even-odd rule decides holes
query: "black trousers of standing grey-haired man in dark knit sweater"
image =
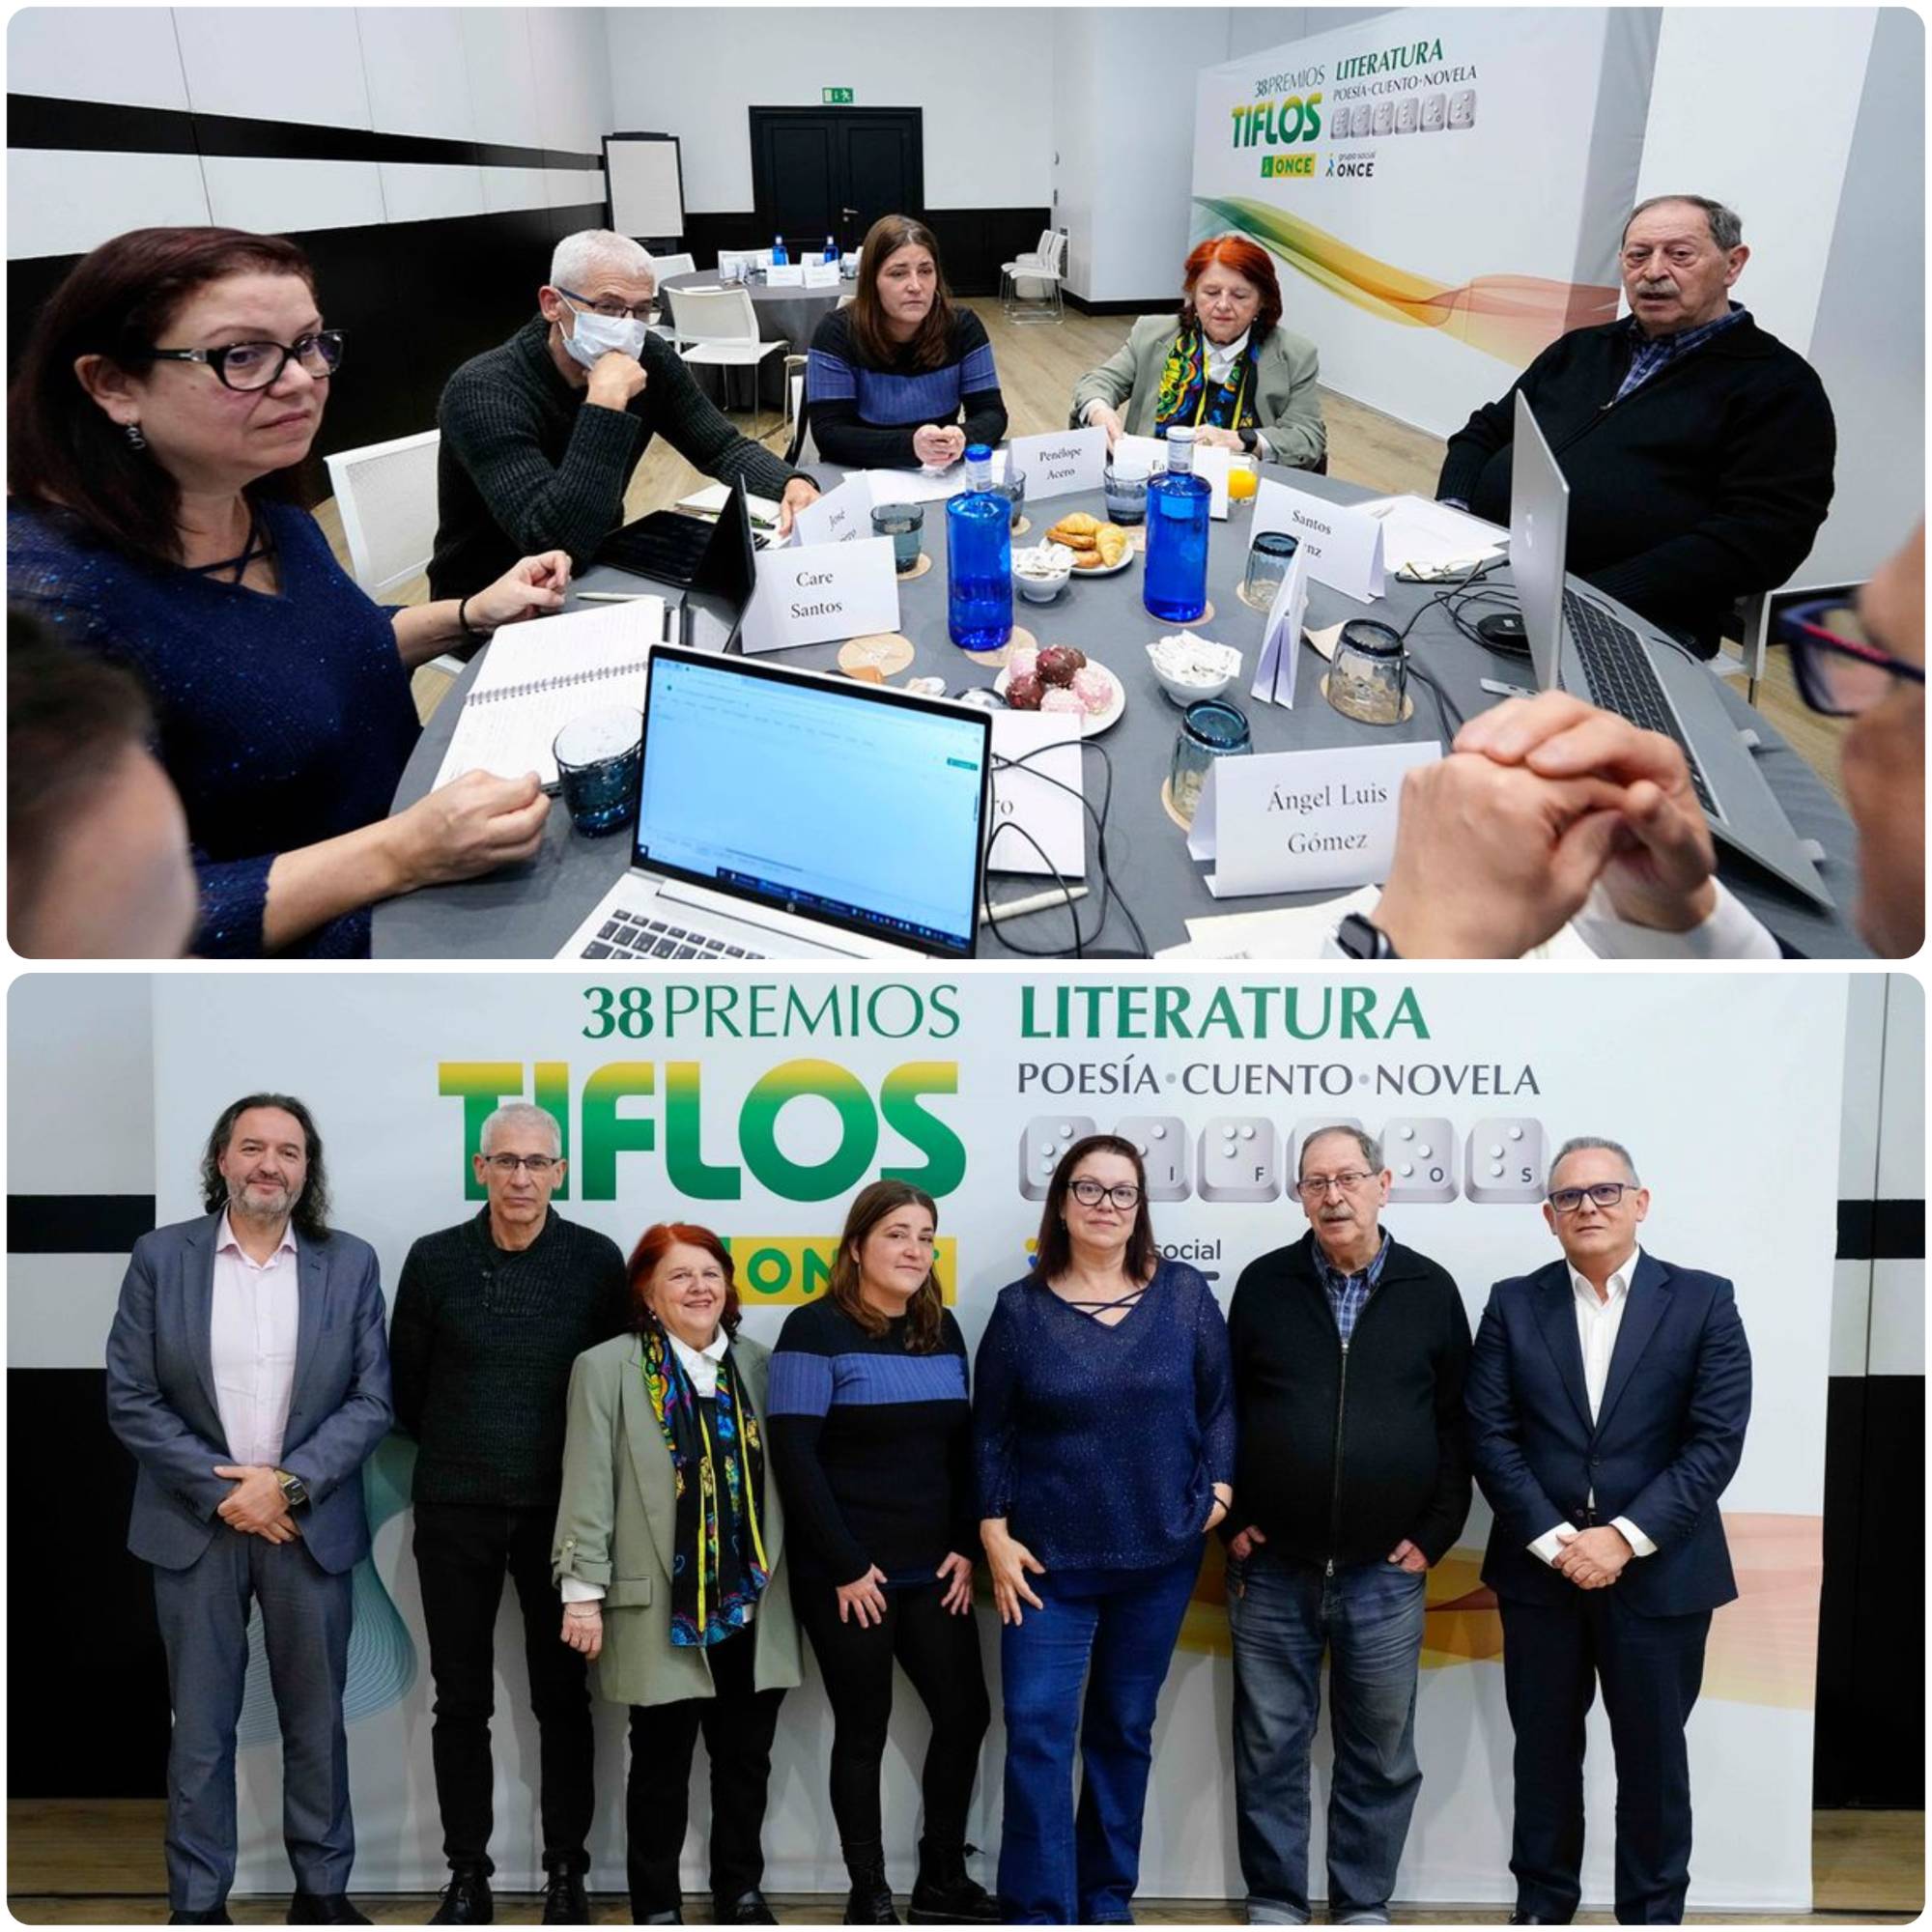
{"label": "black trousers of standing grey-haired man in dark knit sweater", "polygon": [[560,1636],[562,1600],[551,1582],[556,1509],[491,1509],[473,1503],[415,1505],[415,1571],[437,1689],[429,1731],[450,1868],[493,1872],[489,1835],[495,1768],[489,1719],[497,1683],[497,1605],[504,1573],[524,1611],[529,1704],[537,1716],[545,1864],[589,1868],[585,1839],[595,1801],[597,1737],[583,1658]]}

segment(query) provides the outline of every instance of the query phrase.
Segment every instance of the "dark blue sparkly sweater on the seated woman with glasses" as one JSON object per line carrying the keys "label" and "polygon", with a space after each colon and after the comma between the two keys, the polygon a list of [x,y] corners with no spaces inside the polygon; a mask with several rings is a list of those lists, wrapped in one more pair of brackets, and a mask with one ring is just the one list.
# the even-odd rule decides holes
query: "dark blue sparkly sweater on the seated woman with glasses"
{"label": "dark blue sparkly sweater on the seated woman with glasses", "polygon": [[[153,568],[58,514],[8,506],[8,599],[147,684],[160,761],[201,879],[195,952],[253,956],[276,854],[386,817],[415,746],[410,672],[384,611],[344,576],[315,518],[263,504],[280,595]],[[369,951],[369,912],[311,933],[313,958]]]}

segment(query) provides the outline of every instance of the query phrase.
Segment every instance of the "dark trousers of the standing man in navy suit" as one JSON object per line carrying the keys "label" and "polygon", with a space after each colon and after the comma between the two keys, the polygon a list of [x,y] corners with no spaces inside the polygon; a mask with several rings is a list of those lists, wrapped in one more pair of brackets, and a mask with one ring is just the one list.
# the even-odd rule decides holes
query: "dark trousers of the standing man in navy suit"
{"label": "dark trousers of the standing man in navy suit", "polygon": [[1582,1897],[1584,1716],[1602,1681],[1617,1756],[1617,1922],[1679,1924],[1690,1884],[1685,1719],[1704,1681],[1710,1611],[1640,1617],[1615,1584],[1499,1605],[1517,1731],[1517,1909],[1567,1924]]}

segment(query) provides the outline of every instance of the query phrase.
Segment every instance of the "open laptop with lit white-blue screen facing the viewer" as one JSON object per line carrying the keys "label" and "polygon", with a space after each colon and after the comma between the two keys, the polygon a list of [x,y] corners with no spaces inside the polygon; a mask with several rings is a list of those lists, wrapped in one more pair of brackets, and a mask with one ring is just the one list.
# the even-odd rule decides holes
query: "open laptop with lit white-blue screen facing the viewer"
{"label": "open laptop with lit white-blue screen facing the viewer", "polygon": [[993,719],[661,645],[630,871],[558,958],[970,960]]}

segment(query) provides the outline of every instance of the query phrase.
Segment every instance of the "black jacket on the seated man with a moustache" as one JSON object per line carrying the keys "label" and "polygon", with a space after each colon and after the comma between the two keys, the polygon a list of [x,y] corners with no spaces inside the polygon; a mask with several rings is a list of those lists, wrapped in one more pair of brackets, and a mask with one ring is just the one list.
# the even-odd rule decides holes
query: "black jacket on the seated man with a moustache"
{"label": "black jacket on the seated man with a moustache", "polygon": [[1832,506],[1832,404],[1748,315],[1611,402],[1633,354],[1629,321],[1559,336],[1449,439],[1435,495],[1509,522],[1520,388],[1571,487],[1571,572],[1708,657],[1737,599],[1810,553]]}

